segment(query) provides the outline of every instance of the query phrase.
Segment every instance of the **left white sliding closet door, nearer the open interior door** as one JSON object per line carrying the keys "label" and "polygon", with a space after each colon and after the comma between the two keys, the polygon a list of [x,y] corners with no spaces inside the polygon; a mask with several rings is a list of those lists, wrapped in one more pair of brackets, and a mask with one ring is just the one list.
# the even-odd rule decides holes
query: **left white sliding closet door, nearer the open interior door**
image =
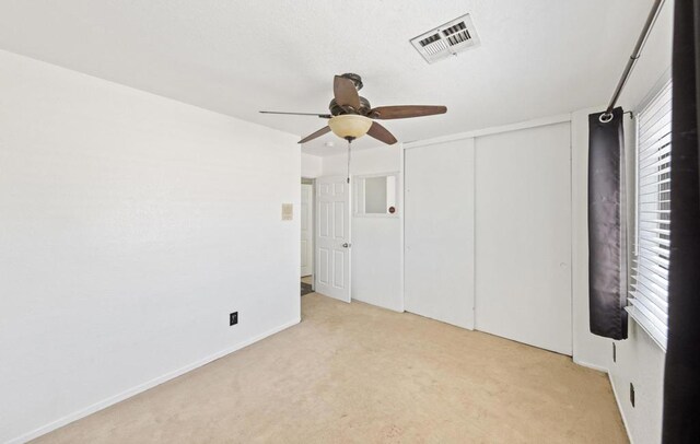
{"label": "left white sliding closet door, nearer the open interior door", "polygon": [[474,328],[474,139],[405,152],[405,308]]}

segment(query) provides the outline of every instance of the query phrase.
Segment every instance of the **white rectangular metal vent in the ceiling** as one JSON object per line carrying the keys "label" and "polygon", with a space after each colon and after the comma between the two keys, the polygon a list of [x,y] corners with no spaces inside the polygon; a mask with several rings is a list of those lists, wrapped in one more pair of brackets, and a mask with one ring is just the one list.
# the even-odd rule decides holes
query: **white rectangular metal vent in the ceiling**
{"label": "white rectangular metal vent in the ceiling", "polygon": [[469,14],[428,31],[416,38],[411,45],[429,63],[456,56],[466,49],[479,45],[479,36]]}

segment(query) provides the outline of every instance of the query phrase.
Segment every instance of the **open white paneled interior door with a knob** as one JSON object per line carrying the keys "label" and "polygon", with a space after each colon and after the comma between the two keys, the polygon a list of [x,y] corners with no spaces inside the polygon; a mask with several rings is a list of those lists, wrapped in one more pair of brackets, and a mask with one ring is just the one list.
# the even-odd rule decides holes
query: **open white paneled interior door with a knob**
{"label": "open white paneled interior door with a knob", "polygon": [[350,184],[343,176],[316,179],[315,291],[350,302]]}

